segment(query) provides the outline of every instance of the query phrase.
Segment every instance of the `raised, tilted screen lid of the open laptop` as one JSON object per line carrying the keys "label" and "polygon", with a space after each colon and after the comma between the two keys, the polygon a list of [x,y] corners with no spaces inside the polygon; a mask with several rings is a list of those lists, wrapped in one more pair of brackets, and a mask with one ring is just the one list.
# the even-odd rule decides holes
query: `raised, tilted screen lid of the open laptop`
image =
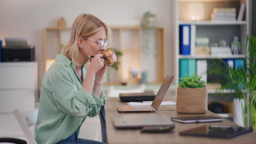
{"label": "raised, tilted screen lid of the open laptop", "polygon": [[161,105],[162,100],[164,99],[169,87],[171,86],[175,76],[174,75],[166,75],[164,82],[162,82],[162,85],[158,91],[158,94],[156,94],[155,99],[152,103],[152,106],[157,110],[158,107]]}

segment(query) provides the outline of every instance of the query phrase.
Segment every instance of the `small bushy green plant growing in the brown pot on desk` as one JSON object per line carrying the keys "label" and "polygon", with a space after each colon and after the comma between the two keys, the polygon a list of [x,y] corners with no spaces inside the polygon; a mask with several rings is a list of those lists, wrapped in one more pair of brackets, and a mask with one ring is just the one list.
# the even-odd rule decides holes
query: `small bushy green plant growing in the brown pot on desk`
{"label": "small bushy green plant growing in the brown pot on desk", "polygon": [[201,80],[202,76],[193,74],[192,76],[187,75],[182,77],[179,82],[179,87],[182,88],[203,88],[206,87],[205,81]]}

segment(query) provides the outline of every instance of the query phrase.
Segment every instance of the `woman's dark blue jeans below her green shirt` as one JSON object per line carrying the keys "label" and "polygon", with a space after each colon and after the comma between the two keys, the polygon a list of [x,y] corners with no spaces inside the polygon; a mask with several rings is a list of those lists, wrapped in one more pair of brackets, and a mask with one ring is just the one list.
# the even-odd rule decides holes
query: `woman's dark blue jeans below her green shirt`
{"label": "woman's dark blue jeans below her green shirt", "polygon": [[69,136],[66,140],[60,141],[58,144],[73,144],[73,143],[81,143],[81,144],[104,144],[103,142],[93,141],[93,140],[86,140],[86,139],[79,139],[77,136],[77,131],[74,134]]}

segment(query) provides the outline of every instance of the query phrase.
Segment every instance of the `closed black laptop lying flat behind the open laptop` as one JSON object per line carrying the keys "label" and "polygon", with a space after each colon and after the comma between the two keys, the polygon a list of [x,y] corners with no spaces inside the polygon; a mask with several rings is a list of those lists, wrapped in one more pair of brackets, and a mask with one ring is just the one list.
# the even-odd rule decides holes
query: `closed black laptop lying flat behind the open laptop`
{"label": "closed black laptop lying flat behind the open laptop", "polygon": [[146,91],[143,93],[120,93],[119,98],[122,102],[153,101],[155,93],[153,91]]}

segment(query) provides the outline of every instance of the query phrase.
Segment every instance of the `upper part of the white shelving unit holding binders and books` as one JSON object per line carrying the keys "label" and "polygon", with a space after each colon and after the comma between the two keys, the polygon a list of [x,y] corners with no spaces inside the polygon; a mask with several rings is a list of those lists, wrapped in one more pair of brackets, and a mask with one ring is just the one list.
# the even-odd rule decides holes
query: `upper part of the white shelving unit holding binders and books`
{"label": "upper part of the white shelving unit holding binders and books", "polygon": [[[211,21],[210,14],[214,8],[236,8],[236,13],[240,8],[240,4],[248,4],[249,0],[240,1],[240,0],[176,0],[176,75],[179,77],[179,60],[180,59],[241,59],[245,58],[246,49],[242,49],[240,55],[222,55],[222,56],[211,56],[211,55],[180,55],[179,50],[179,26],[180,25],[191,25],[196,27],[196,36],[195,37],[208,37],[211,43],[218,42],[219,39],[224,39],[227,46],[230,46],[232,43],[232,37],[235,35],[238,39],[245,44],[247,34],[249,33],[249,21],[248,14],[249,10],[246,8],[245,16],[242,21]],[[192,12],[189,11],[189,5],[199,5],[199,10],[203,10],[203,14],[200,14],[198,9],[192,9]],[[201,19],[198,21],[193,21],[190,19],[189,13],[199,13]],[[225,30],[225,31],[224,31]],[[192,37],[192,36],[191,36]],[[179,79],[176,79],[178,83]],[[214,92],[214,89],[211,93]]]}

